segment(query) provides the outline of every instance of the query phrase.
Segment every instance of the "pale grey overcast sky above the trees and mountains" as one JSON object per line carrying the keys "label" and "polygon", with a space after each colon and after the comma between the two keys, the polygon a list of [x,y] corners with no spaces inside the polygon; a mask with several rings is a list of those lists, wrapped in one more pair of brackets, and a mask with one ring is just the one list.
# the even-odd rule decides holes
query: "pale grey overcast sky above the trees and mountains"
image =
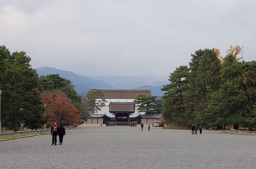
{"label": "pale grey overcast sky above the trees and mountains", "polygon": [[198,49],[244,47],[256,58],[256,1],[3,1],[0,45],[33,68],[166,76]]}

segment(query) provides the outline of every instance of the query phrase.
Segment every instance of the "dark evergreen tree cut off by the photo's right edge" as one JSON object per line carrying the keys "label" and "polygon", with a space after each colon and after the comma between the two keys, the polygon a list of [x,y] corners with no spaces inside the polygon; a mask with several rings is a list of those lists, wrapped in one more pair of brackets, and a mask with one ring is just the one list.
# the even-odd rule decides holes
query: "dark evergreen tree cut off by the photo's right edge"
{"label": "dark evergreen tree cut off by the photo's right edge", "polygon": [[221,75],[223,84],[219,91],[211,95],[211,110],[218,114],[221,125],[256,125],[256,61],[235,62],[226,67]]}

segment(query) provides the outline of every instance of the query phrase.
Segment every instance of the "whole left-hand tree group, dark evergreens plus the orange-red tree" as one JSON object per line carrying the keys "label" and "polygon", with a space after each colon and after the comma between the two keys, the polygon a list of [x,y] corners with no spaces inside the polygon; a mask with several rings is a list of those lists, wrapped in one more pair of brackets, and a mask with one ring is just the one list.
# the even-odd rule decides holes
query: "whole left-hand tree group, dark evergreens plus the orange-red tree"
{"label": "whole left-hand tree group, dark evergreens plus the orange-red tree", "polygon": [[2,127],[18,131],[23,123],[38,129],[53,121],[78,124],[88,113],[85,99],[78,96],[71,81],[57,74],[38,76],[24,51],[11,53],[0,46],[0,90]]}

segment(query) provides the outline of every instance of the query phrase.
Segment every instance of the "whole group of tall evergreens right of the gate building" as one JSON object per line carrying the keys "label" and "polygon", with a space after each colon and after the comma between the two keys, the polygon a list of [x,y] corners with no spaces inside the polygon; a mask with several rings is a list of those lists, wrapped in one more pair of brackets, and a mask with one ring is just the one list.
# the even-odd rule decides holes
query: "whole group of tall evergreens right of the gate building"
{"label": "whole group of tall evergreens right of the gate building", "polygon": [[197,50],[188,66],[170,73],[162,90],[162,114],[167,123],[204,126],[256,125],[256,61],[242,59],[243,48]]}

